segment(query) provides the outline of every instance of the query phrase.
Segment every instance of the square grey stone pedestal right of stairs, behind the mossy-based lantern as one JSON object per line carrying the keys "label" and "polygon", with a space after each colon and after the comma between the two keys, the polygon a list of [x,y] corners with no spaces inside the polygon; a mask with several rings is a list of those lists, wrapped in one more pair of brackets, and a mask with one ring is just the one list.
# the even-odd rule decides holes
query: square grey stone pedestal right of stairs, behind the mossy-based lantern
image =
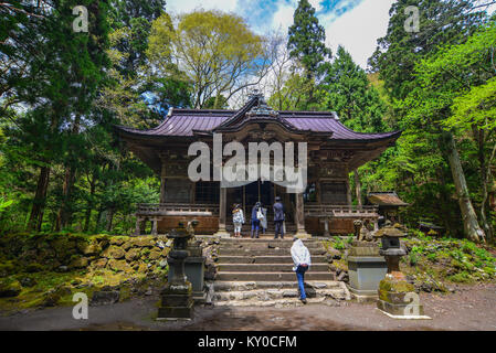
{"label": "square grey stone pedestal right of stairs, behind the mossy-based lantern", "polygon": [[358,301],[376,300],[379,282],[388,271],[376,243],[355,240],[348,252],[349,291]]}

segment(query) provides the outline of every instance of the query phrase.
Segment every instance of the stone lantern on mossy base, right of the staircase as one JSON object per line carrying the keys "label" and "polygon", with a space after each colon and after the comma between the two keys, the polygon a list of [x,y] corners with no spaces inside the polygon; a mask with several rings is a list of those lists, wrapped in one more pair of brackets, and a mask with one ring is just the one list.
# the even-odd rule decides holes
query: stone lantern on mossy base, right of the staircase
{"label": "stone lantern on mossy base, right of the staircase", "polygon": [[394,319],[430,319],[424,315],[415,288],[407,282],[407,277],[400,269],[400,258],[407,255],[401,247],[400,238],[405,235],[398,224],[394,226],[388,224],[376,233],[382,242],[379,253],[388,265],[388,272],[379,284],[377,308]]}

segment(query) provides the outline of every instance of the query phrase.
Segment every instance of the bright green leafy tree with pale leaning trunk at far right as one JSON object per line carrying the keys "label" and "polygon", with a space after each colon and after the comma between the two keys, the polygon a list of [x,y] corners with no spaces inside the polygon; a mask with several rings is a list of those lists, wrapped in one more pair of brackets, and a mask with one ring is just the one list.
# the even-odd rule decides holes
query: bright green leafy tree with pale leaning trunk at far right
{"label": "bright green leafy tree with pale leaning trunk at far right", "polygon": [[[489,28],[476,32],[463,44],[443,47],[436,55],[419,63],[415,68],[416,87],[405,99],[405,107],[410,109],[410,125],[428,130],[439,139],[439,147],[446,156],[452,171],[465,234],[475,242],[485,240],[485,232],[478,225],[457,150],[456,130],[452,128],[457,119],[453,118],[452,105],[457,97],[473,89],[471,87],[483,86],[496,76],[493,66],[495,46],[496,32],[493,23]],[[487,117],[486,114],[483,115]],[[473,121],[473,117],[468,117],[468,121]],[[446,124],[450,126],[447,130],[443,129]],[[475,132],[475,140],[485,138],[486,133],[490,132],[490,125],[487,124],[479,126],[465,122],[464,126],[468,131]],[[479,154],[481,167],[484,169],[481,174],[486,175],[484,150],[479,151]],[[485,180],[483,176],[482,185]],[[482,217],[483,223],[487,223],[485,214]],[[489,229],[487,224],[484,224],[484,228]]]}

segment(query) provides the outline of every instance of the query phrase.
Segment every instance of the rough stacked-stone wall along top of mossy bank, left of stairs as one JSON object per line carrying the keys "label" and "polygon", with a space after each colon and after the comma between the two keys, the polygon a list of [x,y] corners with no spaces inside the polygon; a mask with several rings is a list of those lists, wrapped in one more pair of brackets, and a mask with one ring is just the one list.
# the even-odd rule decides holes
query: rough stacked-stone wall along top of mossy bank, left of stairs
{"label": "rough stacked-stone wall along top of mossy bank, left of stairs", "polygon": [[12,234],[0,236],[0,277],[27,271],[109,269],[154,271],[166,267],[171,242],[163,236]]}

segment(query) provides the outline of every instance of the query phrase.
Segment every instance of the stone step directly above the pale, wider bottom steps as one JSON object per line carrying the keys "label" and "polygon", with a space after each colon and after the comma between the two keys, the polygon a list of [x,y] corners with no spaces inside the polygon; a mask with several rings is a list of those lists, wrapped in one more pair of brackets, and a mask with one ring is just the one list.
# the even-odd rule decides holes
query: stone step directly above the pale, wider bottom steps
{"label": "stone step directly above the pale, wider bottom steps", "polygon": [[[277,280],[296,280],[295,272],[239,272],[239,271],[219,271],[217,280],[236,280],[236,281],[277,281]],[[305,274],[308,280],[334,280],[330,272],[308,271]]]}

